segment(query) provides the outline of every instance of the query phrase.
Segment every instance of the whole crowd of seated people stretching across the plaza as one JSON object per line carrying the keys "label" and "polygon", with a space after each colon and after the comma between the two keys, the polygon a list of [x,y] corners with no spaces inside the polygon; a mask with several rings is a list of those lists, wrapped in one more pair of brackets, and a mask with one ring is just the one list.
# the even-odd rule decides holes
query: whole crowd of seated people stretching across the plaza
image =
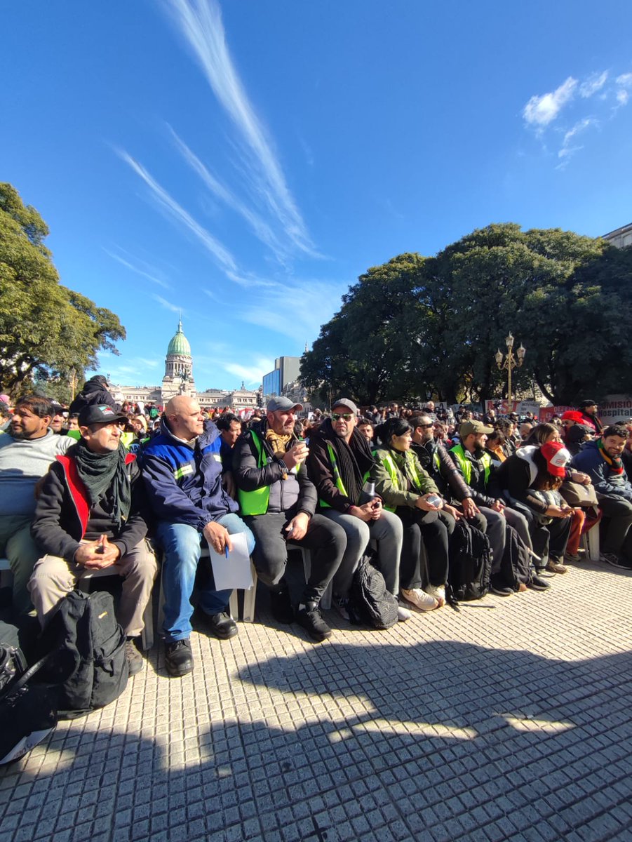
{"label": "whole crowd of seated people stretching across the plaza", "polygon": [[[360,411],[348,397],[308,418],[273,397],[242,422],[186,395],[164,408],[119,407],[95,377],[67,409],[35,395],[8,403],[0,396],[0,554],[13,570],[13,610],[35,611],[45,629],[87,571],[112,568],[123,578],[117,616],[132,674],[159,569],[170,675],[194,669],[194,589],[205,629],[236,635],[230,591],[215,588],[203,549],[230,558],[237,535],[275,621],[315,642],[332,636],[321,613],[330,584],[333,608],[351,616],[366,554],[399,621],[453,600],[459,520],[486,534],[499,596],[549,589],[582,560],[582,534],[602,517],[601,560],[632,569],[632,421],[604,428],[592,401],[539,424],[433,402]],[[507,575],[510,545],[527,564]],[[297,594],[292,546],[311,551]]]}

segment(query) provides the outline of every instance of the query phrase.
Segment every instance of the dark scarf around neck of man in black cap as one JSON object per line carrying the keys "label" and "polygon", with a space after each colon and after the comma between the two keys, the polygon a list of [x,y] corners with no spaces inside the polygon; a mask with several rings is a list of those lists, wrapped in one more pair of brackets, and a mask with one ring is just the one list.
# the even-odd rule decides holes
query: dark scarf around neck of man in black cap
{"label": "dark scarf around neck of man in black cap", "polygon": [[99,504],[112,489],[112,516],[120,528],[130,516],[131,486],[125,470],[126,450],[119,445],[107,453],[93,453],[83,439],[68,453],[77,464],[79,478],[88,490],[90,508]]}

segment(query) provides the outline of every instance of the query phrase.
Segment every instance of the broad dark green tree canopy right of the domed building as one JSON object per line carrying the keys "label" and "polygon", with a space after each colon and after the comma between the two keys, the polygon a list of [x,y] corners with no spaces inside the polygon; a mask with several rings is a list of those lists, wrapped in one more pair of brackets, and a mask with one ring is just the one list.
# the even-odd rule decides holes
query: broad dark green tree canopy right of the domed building
{"label": "broad dark green tree canopy right of the domed building", "polygon": [[434,258],[403,254],[369,269],[321,329],[308,386],[360,402],[432,393],[499,397],[497,349],[527,347],[514,394],[534,382],[554,403],[629,391],[632,248],[559,229],[491,225]]}

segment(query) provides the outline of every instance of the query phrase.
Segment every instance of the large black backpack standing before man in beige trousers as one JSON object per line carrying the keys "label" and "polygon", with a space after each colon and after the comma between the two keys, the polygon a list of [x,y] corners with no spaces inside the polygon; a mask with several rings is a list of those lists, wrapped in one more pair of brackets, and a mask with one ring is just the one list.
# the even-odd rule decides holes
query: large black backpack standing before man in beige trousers
{"label": "large black backpack standing before man in beige trousers", "polygon": [[54,662],[68,658],[73,662],[60,687],[61,717],[72,719],[109,705],[125,690],[129,674],[125,634],[107,591],[67,594],[46,626],[45,639],[54,650]]}

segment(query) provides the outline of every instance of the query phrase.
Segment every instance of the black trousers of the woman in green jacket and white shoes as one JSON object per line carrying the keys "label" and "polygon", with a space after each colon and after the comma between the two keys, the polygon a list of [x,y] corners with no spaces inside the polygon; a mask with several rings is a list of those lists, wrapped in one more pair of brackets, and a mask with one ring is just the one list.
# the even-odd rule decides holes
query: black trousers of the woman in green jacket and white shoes
{"label": "black trousers of the woman in green jacket and white shoes", "polygon": [[[449,537],[454,518],[447,512],[424,512],[400,506],[396,515],[404,527],[401,546],[400,588],[435,587],[448,581]],[[424,552],[425,550],[425,552]]]}

